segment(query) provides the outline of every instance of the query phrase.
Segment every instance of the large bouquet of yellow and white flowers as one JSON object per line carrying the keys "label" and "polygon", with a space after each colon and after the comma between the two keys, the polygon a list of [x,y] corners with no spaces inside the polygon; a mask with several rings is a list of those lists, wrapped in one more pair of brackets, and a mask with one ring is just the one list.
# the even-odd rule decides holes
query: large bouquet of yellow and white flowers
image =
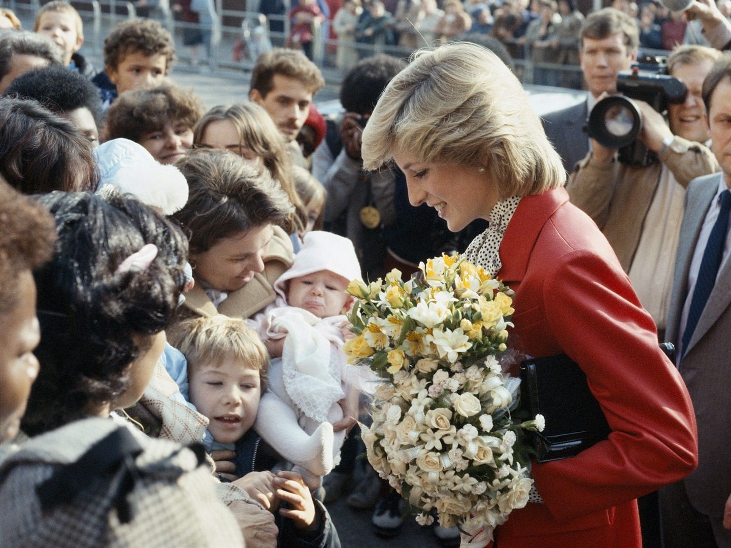
{"label": "large bouquet of yellow and white flowers", "polygon": [[392,270],[385,281],[347,289],[356,297],[349,363],[385,379],[373,425],[363,427],[368,462],[421,510],[420,524],[436,509],[442,526],[490,540],[528,502],[522,433],[543,427],[542,416],[520,424],[510,416],[520,381],[504,378],[498,358],[507,351],[513,292],[460,256],[420,270],[405,283]]}

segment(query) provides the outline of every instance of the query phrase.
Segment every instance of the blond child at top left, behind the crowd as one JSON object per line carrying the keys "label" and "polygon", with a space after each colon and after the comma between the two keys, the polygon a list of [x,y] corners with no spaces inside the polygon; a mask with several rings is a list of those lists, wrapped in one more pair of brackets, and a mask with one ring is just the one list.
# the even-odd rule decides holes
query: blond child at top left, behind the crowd
{"label": "blond child at top left, behind the crowd", "polygon": [[79,52],[84,43],[84,28],[76,9],[64,0],[53,0],[39,9],[33,31],[44,34],[61,50],[61,62],[91,80],[96,76],[94,66]]}

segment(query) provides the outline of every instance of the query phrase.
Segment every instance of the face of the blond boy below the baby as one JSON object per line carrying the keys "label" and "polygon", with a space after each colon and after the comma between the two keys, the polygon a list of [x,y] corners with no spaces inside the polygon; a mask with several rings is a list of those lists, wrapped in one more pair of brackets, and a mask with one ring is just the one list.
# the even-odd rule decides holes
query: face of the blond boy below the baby
{"label": "face of the blond boy below the baby", "polygon": [[214,440],[232,444],[254,425],[262,395],[259,370],[228,356],[191,369],[189,377],[190,401],[211,421]]}

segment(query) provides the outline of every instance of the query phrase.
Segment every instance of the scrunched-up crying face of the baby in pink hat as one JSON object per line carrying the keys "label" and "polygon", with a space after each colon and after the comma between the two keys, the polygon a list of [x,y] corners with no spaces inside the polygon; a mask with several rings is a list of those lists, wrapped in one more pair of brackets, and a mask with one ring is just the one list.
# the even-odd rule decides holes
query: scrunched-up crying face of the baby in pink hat
{"label": "scrunched-up crying face of the baby in pink hat", "polygon": [[289,306],[303,308],[318,318],[337,316],[350,297],[345,289],[348,281],[330,270],[317,272],[292,278],[287,291]]}

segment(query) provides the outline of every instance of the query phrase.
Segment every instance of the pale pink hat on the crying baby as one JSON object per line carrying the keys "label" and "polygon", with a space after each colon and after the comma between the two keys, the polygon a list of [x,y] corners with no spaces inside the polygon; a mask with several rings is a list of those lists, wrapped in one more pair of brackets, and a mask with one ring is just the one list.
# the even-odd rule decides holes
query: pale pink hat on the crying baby
{"label": "pale pink hat on the crying baby", "polygon": [[303,246],[295,255],[292,267],[274,282],[274,289],[282,297],[287,297],[288,280],[300,276],[328,270],[342,276],[347,281],[360,280],[360,263],[355,255],[353,243],[346,237],[332,232],[315,230],[308,232],[303,239]]}

